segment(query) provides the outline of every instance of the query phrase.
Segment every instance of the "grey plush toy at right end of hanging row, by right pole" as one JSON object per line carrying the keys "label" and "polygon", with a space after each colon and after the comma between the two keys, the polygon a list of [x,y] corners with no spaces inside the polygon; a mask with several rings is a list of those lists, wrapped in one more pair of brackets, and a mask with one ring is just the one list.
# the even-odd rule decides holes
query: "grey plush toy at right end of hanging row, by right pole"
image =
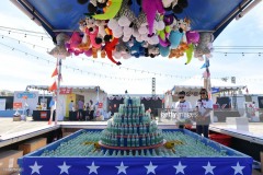
{"label": "grey plush toy at right end of hanging row, by right pole", "polygon": [[214,40],[214,36],[209,32],[203,32],[199,34],[199,43],[195,47],[194,57],[199,60],[204,60],[203,56],[211,57],[211,43]]}

